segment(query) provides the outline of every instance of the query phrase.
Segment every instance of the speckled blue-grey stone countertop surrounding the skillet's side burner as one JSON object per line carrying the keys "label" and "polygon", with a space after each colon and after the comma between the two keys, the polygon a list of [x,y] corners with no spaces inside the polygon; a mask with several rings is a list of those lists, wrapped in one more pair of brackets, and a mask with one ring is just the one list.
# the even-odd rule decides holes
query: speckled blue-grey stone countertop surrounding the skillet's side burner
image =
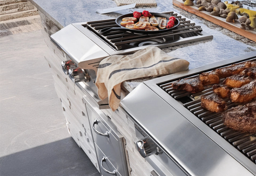
{"label": "speckled blue-grey stone countertop surrounding the skillet's side burner", "polygon": [[[204,32],[213,35],[213,39],[198,41],[164,48],[163,51],[173,57],[186,59],[190,62],[189,69],[221,61],[245,53],[256,51],[256,42],[251,41],[230,30],[207,21],[197,15],[173,6],[171,0],[156,0],[157,6],[138,6],[133,9],[121,10],[107,14],[99,14],[97,9],[116,7],[113,0],[30,0],[39,11],[54,21],[59,28],[71,23],[116,18],[129,10],[150,12],[175,11],[202,27]],[[123,82],[128,90],[133,90],[139,83],[152,78],[141,78]]]}

